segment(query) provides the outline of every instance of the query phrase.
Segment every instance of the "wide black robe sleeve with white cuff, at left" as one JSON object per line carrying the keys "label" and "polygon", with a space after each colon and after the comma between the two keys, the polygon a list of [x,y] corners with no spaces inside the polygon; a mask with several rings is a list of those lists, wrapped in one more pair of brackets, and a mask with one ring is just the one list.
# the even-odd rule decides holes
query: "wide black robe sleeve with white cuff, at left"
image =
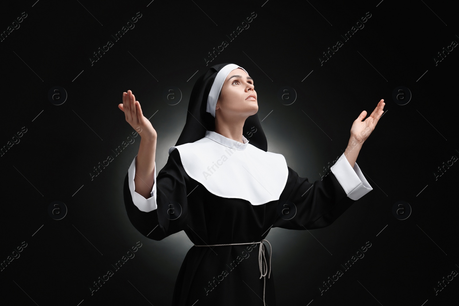
{"label": "wide black robe sleeve with white cuff, at left", "polygon": [[[135,160],[134,167],[131,166],[129,172],[135,173]],[[139,196],[143,198],[136,201],[137,205],[133,201],[135,191],[131,191],[129,187],[129,172],[124,179],[123,195],[126,212],[134,228],[154,240],[162,240],[183,230],[186,226],[188,202],[184,178],[186,172],[179,150],[175,149],[170,153],[166,165],[155,178],[153,191],[156,184],[156,194],[145,199],[136,193],[137,199],[140,199]],[[134,173],[131,174],[132,177]]]}

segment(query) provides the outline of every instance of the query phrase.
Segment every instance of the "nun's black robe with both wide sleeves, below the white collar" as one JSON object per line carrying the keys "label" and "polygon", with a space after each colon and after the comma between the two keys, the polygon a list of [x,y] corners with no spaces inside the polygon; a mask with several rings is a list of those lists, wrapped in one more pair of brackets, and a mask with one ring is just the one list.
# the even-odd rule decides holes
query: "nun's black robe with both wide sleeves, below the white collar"
{"label": "nun's black robe with both wide sleeves, below the white collar", "polygon": [[[258,242],[269,234],[271,227],[323,228],[333,223],[354,202],[346,196],[332,172],[322,181],[311,184],[308,178],[299,177],[290,167],[279,200],[252,205],[247,200],[219,197],[188,176],[179,150],[171,152],[155,184],[157,209],[143,212],[132,201],[126,176],[124,202],[129,220],[147,238],[161,240],[184,230],[195,245]],[[285,203],[294,203],[294,217],[280,214]],[[180,216],[174,216],[179,210]],[[263,245],[269,264],[269,245]],[[199,300],[196,305],[200,306],[262,306],[259,247],[259,244],[191,247],[179,270],[172,305],[190,306]],[[266,278],[265,299],[269,306],[276,305],[276,273],[280,271],[272,266],[271,276]]]}

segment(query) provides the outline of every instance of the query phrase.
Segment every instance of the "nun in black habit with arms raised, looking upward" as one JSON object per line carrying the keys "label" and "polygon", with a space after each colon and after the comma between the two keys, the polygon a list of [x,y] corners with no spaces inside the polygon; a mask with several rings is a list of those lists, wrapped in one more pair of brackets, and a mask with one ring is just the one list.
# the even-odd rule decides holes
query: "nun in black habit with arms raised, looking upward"
{"label": "nun in black habit with arms raised, looking upward", "polygon": [[362,111],[346,151],[313,183],[268,151],[254,80],[233,63],[198,78],[183,131],[158,174],[157,133],[139,101],[128,90],[118,107],[141,137],[124,180],[130,222],[149,239],[183,230],[194,244],[180,267],[173,306],[275,306],[272,249],[264,239],[270,229],[324,228],[373,190],[355,161],[384,100],[364,121]]}

